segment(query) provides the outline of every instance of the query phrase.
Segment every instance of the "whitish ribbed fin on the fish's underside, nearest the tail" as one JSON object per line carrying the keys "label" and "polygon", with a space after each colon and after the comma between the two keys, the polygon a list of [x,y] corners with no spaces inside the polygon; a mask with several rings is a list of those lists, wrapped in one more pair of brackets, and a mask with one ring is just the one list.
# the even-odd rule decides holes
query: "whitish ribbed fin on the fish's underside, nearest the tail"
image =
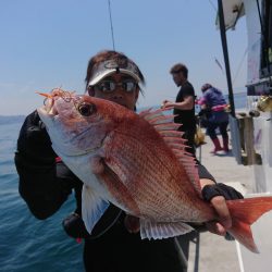
{"label": "whitish ribbed fin on the fish's underside, nearest the tail", "polygon": [[162,239],[183,235],[191,232],[194,228],[184,222],[154,222],[140,219],[141,239]]}

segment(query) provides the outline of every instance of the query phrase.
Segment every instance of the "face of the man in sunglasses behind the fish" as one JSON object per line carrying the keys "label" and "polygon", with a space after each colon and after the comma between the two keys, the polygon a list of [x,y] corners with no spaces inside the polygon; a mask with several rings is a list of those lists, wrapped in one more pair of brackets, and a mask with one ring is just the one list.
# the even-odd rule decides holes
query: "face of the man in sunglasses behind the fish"
{"label": "face of the man in sunglasses behind the fish", "polygon": [[122,73],[107,76],[90,88],[91,96],[113,101],[131,110],[134,110],[139,96],[136,81]]}

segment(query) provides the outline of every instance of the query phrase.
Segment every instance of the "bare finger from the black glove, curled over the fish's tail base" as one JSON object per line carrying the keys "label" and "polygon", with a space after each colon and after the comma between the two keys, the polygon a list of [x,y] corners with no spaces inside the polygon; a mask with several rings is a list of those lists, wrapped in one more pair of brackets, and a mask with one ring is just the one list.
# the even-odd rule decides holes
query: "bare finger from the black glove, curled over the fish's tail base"
{"label": "bare finger from the black glove, curled over the fish's tail base", "polygon": [[226,206],[225,199],[222,196],[213,197],[210,201],[219,214],[219,222],[225,228],[232,227],[232,218]]}

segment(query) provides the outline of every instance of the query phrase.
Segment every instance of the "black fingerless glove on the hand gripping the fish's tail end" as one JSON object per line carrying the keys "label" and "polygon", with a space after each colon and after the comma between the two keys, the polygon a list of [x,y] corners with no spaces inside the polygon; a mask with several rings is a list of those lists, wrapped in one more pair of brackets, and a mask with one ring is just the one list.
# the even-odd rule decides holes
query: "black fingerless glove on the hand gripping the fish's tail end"
{"label": "black fingerless glove on the hand gripping the fish's tail end", "polygon": [[239,191],[223,183],[206,185],[203,187],[202,197],[205,200],[210,201],[215,196],[223,196],[225,200],[244,198]]}

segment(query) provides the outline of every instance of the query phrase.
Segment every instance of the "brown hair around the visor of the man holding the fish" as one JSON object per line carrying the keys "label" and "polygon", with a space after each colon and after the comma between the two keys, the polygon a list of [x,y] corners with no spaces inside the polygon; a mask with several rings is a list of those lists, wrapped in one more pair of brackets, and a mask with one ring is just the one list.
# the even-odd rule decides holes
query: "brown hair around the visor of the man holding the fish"
{"label": "brown hair around the visor of the man holding the fish", "polygon": [[[103,50],[98,52],[97,54],[95,54],[88,62],[88,66],[87,66],[87,74],[85,77],[85,83],[86,83],[86,89],[88,88],[88,83],[96,70],[97,64],[107,61],[107,60],[114,60],[114,59],[125,59],[125,60],[129,60],[132,63],[135,64],[134,61],[132,61],[131,59],[128,59],[124,53],[122,52],[116,52],[113,50]],[[145,84],[145,77],[141,74],[138,65],[135,64],[135,66],[137,67],[137,72],[138,72],[138,76],[141,81],[143,84]],[[140,90],[141,91],[141,90]]]}

